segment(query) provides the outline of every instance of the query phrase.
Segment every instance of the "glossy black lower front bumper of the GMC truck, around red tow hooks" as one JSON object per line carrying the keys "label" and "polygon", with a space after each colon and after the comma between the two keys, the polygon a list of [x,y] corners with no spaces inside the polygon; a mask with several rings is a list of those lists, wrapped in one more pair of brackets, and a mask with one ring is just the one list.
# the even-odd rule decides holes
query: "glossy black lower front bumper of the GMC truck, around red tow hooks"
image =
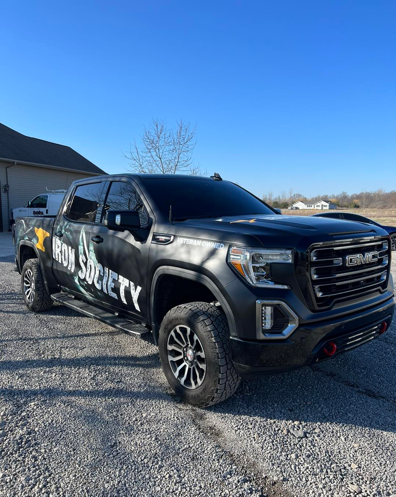
{"label": "glossy black lower front bumper of the GMC truck, around red tow hooks", "polygon": [[285,340],[244,340],[231,337],[232,358],[240,376],[259,376],[315,364],[329,359],[323,353],[328,342],[336,344],[331,357],[376,338],[382,324],[391,325],[395,311],[392,297],[371,309],[331,321],[302,324]]}

